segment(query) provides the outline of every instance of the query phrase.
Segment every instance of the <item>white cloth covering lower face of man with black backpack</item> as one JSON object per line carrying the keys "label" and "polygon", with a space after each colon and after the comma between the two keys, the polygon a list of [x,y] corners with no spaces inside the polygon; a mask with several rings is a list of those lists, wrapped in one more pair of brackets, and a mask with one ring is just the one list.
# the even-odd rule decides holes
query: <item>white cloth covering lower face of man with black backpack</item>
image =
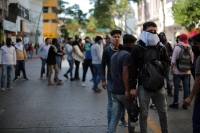
{"label": "white cloth covering lower face of man with black backpack", "polygon": [[154,46],[160,41],[157,34],[142,31],[140,39],[146,44],[146,46]]}

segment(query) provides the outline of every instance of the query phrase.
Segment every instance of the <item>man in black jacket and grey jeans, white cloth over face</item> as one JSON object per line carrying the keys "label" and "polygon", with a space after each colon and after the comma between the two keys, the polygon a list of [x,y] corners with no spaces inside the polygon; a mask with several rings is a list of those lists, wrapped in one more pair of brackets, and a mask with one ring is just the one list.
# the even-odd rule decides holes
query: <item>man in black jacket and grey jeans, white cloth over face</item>
{"label": "man in black jacket and grey jeans, white cloth over face", "polygon": [[[137,97],[139,94],[139,104],[140,104],[140,132],[147,132],[147,117],[148,117],[148,106],[150,99],[155,103],[156,109],[160,117],[160,125],[162,133],[168,133],[168,118],[167,118],[167,101],[165,89],[162,88],[156,92],[148,92],[144,89],[140,78],[139,73],[144,65],[144,52],[145,49],[142,47],[156,46],[158,47],[160,59],[157,60],[160,64],[163,65],[164,71],[169,67],[170,59],[167,53],[166,48],[163,44],[160,43],[159,37],[156,34],[157,25],[154,22],[146,22],[143,24],[143,31],[140,36],[138,44],[135,45],[131,51],[131,65],[130,65],[130,88],[132,98]],[[136,86],[138,85],[138,89]]]}

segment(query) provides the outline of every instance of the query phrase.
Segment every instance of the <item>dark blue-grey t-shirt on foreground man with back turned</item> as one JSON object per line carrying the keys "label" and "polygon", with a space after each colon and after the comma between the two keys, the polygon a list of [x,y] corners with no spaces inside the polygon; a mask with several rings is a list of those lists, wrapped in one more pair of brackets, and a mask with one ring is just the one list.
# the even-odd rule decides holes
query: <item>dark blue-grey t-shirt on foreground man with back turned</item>
{"label": "dark blue-grey t-shirt on foreground man with back turned", "polygon": [[112,93],[117,95],[125,95],[125,87],[123,82],[123,66],[130,66],[131,54],[126,50],[120,50],[111,57],[111,76],[113,80]]}

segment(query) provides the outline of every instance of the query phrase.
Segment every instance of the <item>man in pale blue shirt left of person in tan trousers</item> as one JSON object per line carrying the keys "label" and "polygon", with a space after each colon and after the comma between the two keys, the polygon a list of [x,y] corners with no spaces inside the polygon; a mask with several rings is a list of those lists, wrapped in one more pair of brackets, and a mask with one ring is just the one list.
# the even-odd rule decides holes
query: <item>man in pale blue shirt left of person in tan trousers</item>
{"label": "man in pale blue shirt left of person in tan trousers", "polygon": [[[49,48],[51,45],[49,45],[51,43],[51,39],[50,38],[46,38],[45,39],[45,44],[42,44],[38,50],[40,59],[42,60],[42,68],[41,68],[41,74],[40,74],[40,79],[42,79],[43,74],[45,73],[45,65],[47,64],[47,56],[49,53]],[[48,66],[47,66],[47,73],[46,73],[46,77],[48,78]]]}

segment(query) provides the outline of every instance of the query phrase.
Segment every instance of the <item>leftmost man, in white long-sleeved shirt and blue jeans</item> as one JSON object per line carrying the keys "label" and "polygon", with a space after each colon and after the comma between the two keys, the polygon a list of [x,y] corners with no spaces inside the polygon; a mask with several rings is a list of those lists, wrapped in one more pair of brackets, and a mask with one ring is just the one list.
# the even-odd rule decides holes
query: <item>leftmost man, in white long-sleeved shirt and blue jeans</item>
{"label": "leftmost man, in white long-sleeved shirt and blue jeans", "polygon": [[4,91],[5,77],[7,74],[7,89],[12,90],[11,84],[11,72],[12,66],[16,67],[16,51],[12,46],[11,38],[6,39],[6,45],[0,49],[0,67],[1,67],[1,90]]}

